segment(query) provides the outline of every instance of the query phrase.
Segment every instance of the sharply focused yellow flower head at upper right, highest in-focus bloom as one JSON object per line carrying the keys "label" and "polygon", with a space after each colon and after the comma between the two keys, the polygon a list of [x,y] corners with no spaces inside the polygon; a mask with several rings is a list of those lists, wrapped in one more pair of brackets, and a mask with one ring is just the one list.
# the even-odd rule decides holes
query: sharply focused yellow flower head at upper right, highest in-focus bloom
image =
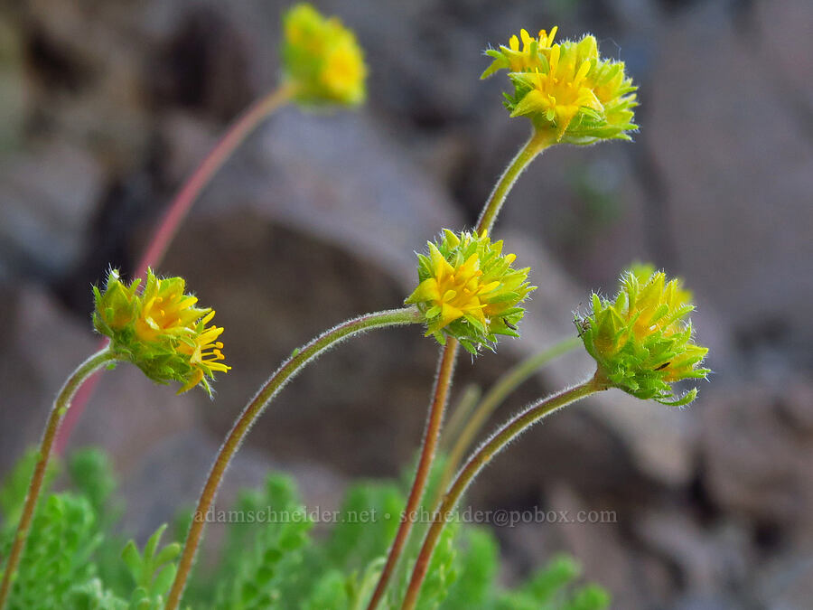
{"label": "sharply focused yellow flower head at upper right, highest in-focus bloom", "polygon": [[578,42],[553,42],[550,33],[528,32],[512,36],[509,46],[486,52],[493,61],[482,73],[486,78],[508,70],[514,85],[506,95],[511,117],[528,117],[537,130],[550,131],[556,142],[593,144],[604,139],[630,139],[632,108],[637,105],[632,80],[622,61],[600,57],[595,38]]}

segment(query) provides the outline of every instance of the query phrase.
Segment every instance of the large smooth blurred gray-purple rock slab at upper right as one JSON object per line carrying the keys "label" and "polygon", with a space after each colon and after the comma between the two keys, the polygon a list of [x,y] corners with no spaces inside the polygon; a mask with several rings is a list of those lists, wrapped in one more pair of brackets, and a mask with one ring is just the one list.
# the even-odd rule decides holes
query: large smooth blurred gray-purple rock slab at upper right
{"label": "large smooth blurred gray-purple rock slab at upper right", "polygon": [[[698,301],[729,328],[748,333],[768,318],[809,342],[799,303],[813,295],[813,149],[799,119],[776,111],[786,97],[770,84],[774,55],[754,49],[761,37],[736,30],[722,5],[686,14],[663,41],[640,137],[668,192],[678,270]],[[802,45],[794,56],[810,55],[809,36],[793,44]]]}

